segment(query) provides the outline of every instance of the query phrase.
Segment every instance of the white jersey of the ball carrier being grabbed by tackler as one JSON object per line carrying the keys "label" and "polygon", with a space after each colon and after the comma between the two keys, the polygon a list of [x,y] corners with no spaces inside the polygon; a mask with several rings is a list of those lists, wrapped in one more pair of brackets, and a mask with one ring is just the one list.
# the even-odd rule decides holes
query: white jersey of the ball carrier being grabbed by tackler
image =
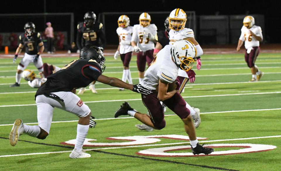
{"label": "white jersey of the ball carrier being grabbed by tackler", "polygon": [[166,45],[161,49],[145,72],[144,80],[140,82],[144,87],[155,90],[159,80],[172,83],[178,76],[179,67],[174,63],[171,56],[172,45]]}

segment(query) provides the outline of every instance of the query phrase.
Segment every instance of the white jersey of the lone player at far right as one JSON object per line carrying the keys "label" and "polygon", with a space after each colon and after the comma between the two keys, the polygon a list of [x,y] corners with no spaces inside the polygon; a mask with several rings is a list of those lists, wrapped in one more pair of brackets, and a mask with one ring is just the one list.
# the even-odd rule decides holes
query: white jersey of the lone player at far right
{"label": "white jersey of the lone player at far right", "polygon": [[245,48],[249,49],[255,46],[260,46],[260,42],[249,33],[249,30],[256,34],[256,36],[261,37],[261,39],[263,39],[263,34],[260,26],[253,25],[253,27],[248,29],[243,25],[243,27],[241,28],[241,36],[239,39],[243,42],[245,41]]}

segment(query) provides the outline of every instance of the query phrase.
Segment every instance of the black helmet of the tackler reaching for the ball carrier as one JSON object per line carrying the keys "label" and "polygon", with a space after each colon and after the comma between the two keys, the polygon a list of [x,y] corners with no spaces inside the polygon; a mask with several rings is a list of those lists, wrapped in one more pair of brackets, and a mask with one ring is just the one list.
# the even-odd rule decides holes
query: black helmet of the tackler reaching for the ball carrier
{"label": "black helmet of the tackler reaching for the ball carrier", "polygon": [[102,72],[105,69],[104,61],[105,58],[103,57],[103,53],[97,46],[85,46],[80,50],[80,59],[92,59],[97,61],[102,68]]}

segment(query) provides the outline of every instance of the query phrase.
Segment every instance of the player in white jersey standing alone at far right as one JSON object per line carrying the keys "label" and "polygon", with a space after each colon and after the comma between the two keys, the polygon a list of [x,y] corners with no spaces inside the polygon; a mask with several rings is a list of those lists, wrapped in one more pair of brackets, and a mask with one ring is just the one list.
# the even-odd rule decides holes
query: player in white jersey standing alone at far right
{"label": "player in white jersey standing alone at far right", "polygon": [[238,41],[237,51],[240,50],[243,42],[245,42],[245,61],[252,72],[252,79],[250,81],[258,81],[263,76],[263,72],[258,70],[255,65],[258,53],[260,52],[260,42],[263,41],[263,34],[261,27],[255,25],[255,18],[248,15],[243,20],[243,26],[241,28],[241,36]]}

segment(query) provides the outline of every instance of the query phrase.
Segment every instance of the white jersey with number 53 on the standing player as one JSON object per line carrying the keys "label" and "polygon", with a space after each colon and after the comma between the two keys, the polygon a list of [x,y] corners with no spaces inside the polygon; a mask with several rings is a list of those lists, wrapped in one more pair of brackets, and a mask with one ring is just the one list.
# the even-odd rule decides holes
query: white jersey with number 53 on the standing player
{"label": "white jersey with number 53 on the standing player", "polygon": [[150,40],[150,37],[154,37],[156,33],[157,27],[155,24],[150,24],[147,27],[136,24],[133,27],[133,36],[131,42],[137,42],[137,46],[140,48],[140,51],[143,52],[154,49],[155,46],[153,41]]}

